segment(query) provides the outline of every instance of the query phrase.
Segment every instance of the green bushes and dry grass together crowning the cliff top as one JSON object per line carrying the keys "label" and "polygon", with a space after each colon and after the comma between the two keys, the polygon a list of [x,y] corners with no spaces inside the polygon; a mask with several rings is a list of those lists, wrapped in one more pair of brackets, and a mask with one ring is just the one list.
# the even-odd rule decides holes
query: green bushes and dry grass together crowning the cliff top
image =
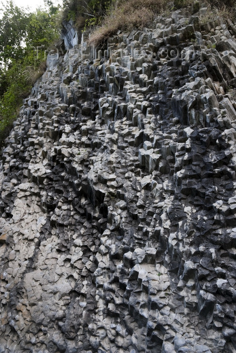
{"label": "green bushes and dry grass together crowning the cliff top", "polygon": [[235,16],[235,0],[64,0],[64,18],[72,18],[78,30],[89,27],[90,42],[99,45],[118,30],[148,25],[157,14],[186,6],[197,12],[201,4],[209,10],[203,21]]}

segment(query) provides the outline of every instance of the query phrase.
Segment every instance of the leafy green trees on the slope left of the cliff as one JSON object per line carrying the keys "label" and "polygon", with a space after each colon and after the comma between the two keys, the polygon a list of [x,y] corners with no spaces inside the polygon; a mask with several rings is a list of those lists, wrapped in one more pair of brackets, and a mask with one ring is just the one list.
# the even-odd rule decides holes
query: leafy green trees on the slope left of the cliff
{"label": "leafy green trees on the slope left of the cliff", "polygon": [[40,75],[44,50],[59,36],[58,11],[51,0],[46,9],[26,12],[11,0],[0,18],[0,145],[14,121],[22,98]]}

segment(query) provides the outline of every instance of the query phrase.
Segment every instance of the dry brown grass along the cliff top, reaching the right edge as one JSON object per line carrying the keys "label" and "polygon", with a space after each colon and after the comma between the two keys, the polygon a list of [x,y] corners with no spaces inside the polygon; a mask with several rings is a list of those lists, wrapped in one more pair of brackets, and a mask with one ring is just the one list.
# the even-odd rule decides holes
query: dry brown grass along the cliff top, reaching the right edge
{"label": "dry brown grass along the cliff top, reaching the right edge", "polygon": [[204,16],[200,20],[201,23],[215,21],[219,17],[224,20],[235,18],[235,0],[116,0],[116,5],[105,16],[102,25],[91,33],[90,43],[99,45],[118,30],[146,26],[157,14],[170,8],[174,10],[192,5],[197,12],[201,3],[209,4],[209,12],[206,18]]}

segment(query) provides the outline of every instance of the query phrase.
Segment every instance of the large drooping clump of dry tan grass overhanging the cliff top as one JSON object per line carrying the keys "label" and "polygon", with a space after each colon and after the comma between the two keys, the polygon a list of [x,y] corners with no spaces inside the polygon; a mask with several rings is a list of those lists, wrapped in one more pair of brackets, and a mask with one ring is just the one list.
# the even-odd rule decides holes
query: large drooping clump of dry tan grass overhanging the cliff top
{"label": "large drooping clump of dry tan grass overhanging the cliff top", "polygon": [[90,43],[98,45],[118,30],[125,31],[134,27],[143,27],[165,8],[165,0],[121,1],[104,18],[102,26],[92,32]]}

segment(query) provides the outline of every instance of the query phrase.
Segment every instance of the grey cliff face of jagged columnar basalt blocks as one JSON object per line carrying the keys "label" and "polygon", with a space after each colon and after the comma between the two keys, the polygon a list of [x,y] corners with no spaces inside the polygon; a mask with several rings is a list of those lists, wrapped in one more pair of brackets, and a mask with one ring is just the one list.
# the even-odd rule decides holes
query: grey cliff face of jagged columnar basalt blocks
{"label": "grey cliff face of jagged columnar basalt blocks", "polygon": [[235,352],[236,27],[198,16],[49,54],[1,163],[0,352]]}

